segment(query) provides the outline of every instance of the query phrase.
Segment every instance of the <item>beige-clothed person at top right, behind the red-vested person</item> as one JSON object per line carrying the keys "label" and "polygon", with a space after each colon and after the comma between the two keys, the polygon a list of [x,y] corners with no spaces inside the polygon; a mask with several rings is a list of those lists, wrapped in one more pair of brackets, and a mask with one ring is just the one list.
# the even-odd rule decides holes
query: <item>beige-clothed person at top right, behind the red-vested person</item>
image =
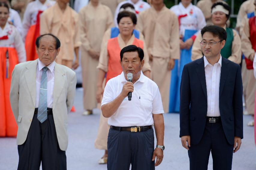
{"label": "beige-clothed person at top right, behind the red-vested person", "polygon": [[236,30],[239,31],[240,27],[242,27],[242,22],[245,16],[248,13],[252,13],[255,11],[254,0],[247,0],[243,2],[239,8],[237,18],[236,18]]}

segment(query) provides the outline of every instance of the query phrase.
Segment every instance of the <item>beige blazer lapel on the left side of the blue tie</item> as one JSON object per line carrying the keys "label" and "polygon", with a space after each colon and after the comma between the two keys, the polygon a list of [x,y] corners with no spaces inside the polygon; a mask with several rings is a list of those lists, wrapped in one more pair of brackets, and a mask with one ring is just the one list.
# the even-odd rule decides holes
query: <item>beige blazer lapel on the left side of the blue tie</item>
{"label": "beige blazer lapel on the left side of the blue tie", "polygon": [[30,95],[33,100],[33,104],[35,106],[35,94],[36,94],[36,67],[38,64],[38,59],[31,61],[26,68],[25,79],[29,88]]}

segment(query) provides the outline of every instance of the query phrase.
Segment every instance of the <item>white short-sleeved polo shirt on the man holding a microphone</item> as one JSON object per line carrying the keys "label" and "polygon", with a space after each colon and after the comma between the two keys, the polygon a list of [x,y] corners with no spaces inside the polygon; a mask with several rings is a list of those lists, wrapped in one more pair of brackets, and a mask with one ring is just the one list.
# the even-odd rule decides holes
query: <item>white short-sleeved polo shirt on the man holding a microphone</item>
{"label": "white short-sleeved polo shirt on the man holding a microphone", "polygon": [[[101,106],[113,101],[126,82],[123,72],[110,79],[105,87]],[[141,71],[140,78],[134,83],[131,101],[125,97],[117,111],[108,119],[108,124],[117,127],[148,126],[154,123],[152,113],[164,113],[161,95],[156,83]]]}

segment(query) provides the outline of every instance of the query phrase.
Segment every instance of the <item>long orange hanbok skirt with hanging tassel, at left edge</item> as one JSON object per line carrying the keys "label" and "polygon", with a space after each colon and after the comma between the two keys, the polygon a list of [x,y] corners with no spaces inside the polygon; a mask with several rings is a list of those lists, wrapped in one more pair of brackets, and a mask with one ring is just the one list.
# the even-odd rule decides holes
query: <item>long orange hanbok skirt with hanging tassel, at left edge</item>
{"label": "long orange hanbok skirt with hanging tassel, at left edge", "polygon": [[[7,54],[8,51],[8,55]],[[0,137],[17,136],[18,126],[10,104],[11,73],[18,64],[17,51],[0,47]]]}

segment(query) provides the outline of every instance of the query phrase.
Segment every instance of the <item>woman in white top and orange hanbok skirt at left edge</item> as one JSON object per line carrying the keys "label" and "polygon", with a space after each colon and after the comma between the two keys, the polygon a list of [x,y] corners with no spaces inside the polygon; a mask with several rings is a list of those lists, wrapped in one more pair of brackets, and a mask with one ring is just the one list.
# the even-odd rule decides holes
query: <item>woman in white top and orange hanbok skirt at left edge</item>
{"label": "woman in white top and orange hanbok skirt at left edge", "polygon": [[16,136],[17,123],[11,110],[9,93],[14,66],[26,61],[20,33],[8,24],[8,4],[0,2],[0,137]]}

